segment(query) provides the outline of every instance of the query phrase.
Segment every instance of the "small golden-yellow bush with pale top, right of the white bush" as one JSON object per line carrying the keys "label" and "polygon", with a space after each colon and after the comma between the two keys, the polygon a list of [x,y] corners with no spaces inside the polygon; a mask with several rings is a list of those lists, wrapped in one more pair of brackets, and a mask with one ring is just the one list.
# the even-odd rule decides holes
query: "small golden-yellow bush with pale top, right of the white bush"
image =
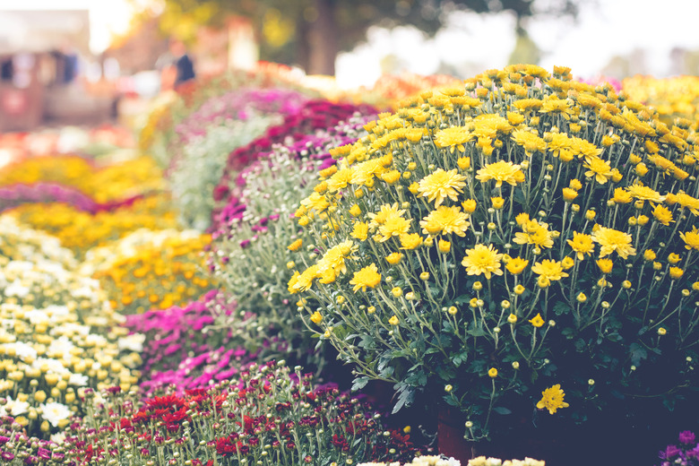
{"label": "small golden-yellow bush with pale top, right of the white bush", "polygon": [[142,229],[92,250],[83,264],[122,314],[185,306],[211,289],[203,250],[209,235],[194,230]]}

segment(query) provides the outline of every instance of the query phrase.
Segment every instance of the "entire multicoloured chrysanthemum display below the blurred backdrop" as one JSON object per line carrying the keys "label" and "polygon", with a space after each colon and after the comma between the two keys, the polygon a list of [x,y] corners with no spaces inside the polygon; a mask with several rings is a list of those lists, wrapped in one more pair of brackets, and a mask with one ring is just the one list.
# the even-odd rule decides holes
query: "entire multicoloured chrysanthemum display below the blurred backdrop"
{"label": "entire multicoloured chrysanthemum display below the blurred backdrop", "polygon": [[699,79],[274,69],[0,168],[2,462],[699,462]]}

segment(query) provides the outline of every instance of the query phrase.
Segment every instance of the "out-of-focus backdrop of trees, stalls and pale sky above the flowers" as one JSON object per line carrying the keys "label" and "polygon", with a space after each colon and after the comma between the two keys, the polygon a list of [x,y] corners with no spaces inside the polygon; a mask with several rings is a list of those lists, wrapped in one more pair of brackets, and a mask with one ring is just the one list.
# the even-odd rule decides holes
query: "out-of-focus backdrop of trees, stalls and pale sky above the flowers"
{"label": "out-of-focus backdrop of trees, stalls and pale sky above the flowers", "polygon": [[510,63],[622,80],[699,74],[697,17],[694,0],[0,0],[0,132],[138,113],[173,87],[174,42],[197,79],[262,60],[338,89]]}

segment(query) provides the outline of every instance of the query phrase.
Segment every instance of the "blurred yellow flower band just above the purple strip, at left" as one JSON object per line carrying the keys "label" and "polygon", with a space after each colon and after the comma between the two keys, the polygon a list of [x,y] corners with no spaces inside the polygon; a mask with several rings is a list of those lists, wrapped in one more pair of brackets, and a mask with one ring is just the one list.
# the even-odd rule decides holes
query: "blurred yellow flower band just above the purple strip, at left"
{"label": "blurred yellow flower band just above the purple strip, at left", "polygon": [[164,181],[150,157],[139,157],[97,168],[76,156],[40,157],[0,169],[0,186],[57,183],[72,186],[97,203],[160,191]]}

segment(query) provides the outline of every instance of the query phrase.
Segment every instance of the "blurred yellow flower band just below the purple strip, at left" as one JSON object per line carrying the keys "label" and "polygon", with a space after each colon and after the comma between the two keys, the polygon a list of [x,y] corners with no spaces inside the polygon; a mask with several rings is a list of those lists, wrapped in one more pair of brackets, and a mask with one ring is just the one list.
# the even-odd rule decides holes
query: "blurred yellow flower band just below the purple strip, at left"
{"label": "blurred yellow flower band just below the purple strip, at left", "polygon": [[166,194],[137,199],[131,205],[96,214],[63,203],[27,203],[8,214],[33,229],[44,230],[82,257],[88,249],[124,237],[136,229],[170,229],[177,226]]}

